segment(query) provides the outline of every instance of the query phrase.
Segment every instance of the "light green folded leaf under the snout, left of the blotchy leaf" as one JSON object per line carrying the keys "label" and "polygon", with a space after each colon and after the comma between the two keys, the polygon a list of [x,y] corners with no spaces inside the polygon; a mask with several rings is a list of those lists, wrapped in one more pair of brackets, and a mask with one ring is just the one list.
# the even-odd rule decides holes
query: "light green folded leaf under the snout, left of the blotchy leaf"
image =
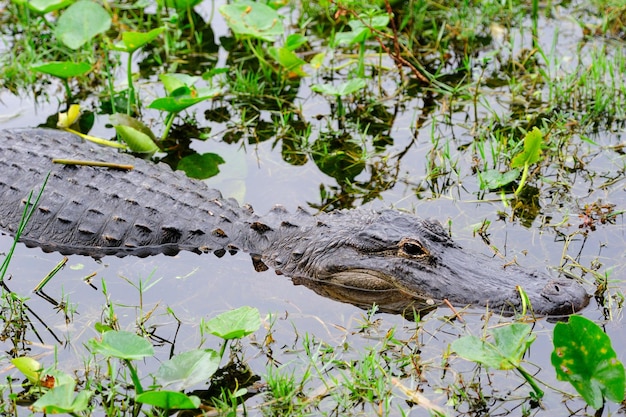
{"label": "light green folded leaf under the snout, left of the blotchy leaf", "polygon": [[452,349],[462,358],[481,363],[488,368],[508,370],[519,367],[524,352],[535,341],[531,328],[513,323],[491,331],[493,343],[476,336],[464,336],[452,343]]}

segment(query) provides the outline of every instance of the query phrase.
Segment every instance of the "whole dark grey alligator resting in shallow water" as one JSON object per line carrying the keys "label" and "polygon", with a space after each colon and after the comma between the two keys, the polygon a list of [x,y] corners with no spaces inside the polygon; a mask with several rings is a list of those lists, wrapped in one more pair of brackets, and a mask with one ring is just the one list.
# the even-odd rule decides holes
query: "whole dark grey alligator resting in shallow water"
{"label": "whole dark grey alligator resting in shallow water", "polygon": [[[588,303],[576,281],[473,253],[436,220],[362,208],[312,215],[275,206],[259,216],[201,181],[80,137],[47,129],[0,131],[0,229],[29,247],[100,258],[187,250],[250,254],[257,270],[361,292],[393,292],[425,305],[567,315]],[[128,171],[60,165],[53,158],[130,164]],[[36,207],[36,196],[45,183]]]}

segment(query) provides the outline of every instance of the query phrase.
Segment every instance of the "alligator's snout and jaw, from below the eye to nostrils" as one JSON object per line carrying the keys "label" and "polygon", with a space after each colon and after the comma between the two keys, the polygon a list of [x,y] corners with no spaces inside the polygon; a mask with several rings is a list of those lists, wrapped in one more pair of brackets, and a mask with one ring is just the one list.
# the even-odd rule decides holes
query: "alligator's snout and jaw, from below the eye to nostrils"
{"label": "alligator's snout and jaw, from below the eye to nostrils", "polygon": [[[551,278],[516,265],[505,268],[497,258],[458,247],[447,249],[446,255],[427,267],[406,259],[386,259],[378,269],[376,259],[370,258],[366,262],[374,269],[346,268],[324,279],[355,288],[395,286],[426,305],[445,299],[456,306],[487,306],[501,313],[522,311],[520,291],[528,296],[528,307],[541,316],[569,315],[589,303],[584,287],[572,279]],[[358,264],[354,259],[353,265]]]}

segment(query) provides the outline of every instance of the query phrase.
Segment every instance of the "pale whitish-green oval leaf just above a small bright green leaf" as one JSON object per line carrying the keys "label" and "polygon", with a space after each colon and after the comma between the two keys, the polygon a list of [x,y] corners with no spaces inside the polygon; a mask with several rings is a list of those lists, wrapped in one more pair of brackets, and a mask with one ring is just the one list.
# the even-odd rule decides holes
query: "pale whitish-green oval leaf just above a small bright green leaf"
{"label": "pale whitish-green oval leaf just above a small bright green leaf", "polygon": [[208,381],[219,365],[220,357],[214,350],[190,350],[163,362],[156,381],[172,391],[186,390]]}

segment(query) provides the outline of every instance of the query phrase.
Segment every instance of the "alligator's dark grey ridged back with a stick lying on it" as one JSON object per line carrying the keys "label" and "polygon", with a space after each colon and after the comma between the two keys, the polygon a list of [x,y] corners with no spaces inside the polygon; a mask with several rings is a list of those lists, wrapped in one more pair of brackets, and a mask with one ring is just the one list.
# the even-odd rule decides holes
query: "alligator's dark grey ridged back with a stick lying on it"
{"label": "alligator's dark grey ridged back with a stick lying on it", "polygon": [[[130,171],[60,165],[53,158],[130,164]],[[15,234],[28,196],[48,182],[21,240],[96,258],[229,249],[231,223],[251,211],[204,183],[76,135],[0,131],[0,228]],[[230,249],[233,249],[230,247]]]}

